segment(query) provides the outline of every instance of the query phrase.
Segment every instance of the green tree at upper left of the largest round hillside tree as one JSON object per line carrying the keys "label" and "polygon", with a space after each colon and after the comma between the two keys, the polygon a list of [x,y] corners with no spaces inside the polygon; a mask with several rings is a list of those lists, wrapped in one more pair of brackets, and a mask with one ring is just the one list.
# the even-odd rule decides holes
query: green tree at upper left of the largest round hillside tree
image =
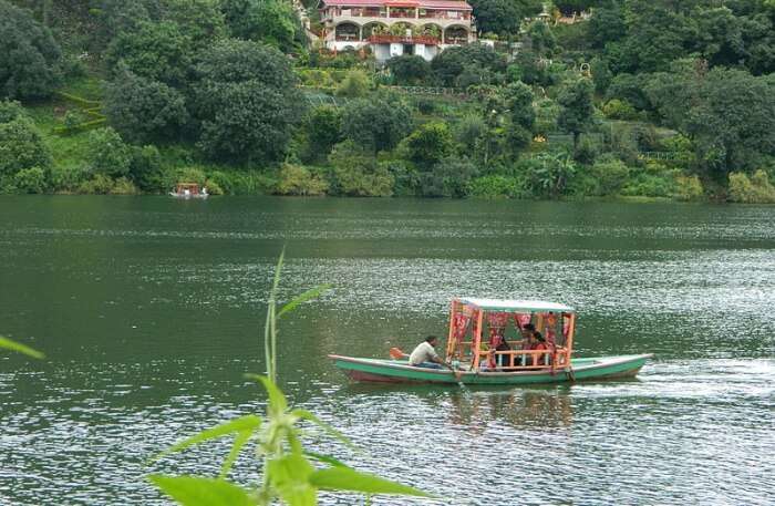
{"label": "green tree at upper left of the largest round hillside tree", "polygon": [[123,32],[105,55],[108,69],[124,63],[135,74],[182,87],[189,81],[192,39],[170,21],[142,22],[134,32]]}

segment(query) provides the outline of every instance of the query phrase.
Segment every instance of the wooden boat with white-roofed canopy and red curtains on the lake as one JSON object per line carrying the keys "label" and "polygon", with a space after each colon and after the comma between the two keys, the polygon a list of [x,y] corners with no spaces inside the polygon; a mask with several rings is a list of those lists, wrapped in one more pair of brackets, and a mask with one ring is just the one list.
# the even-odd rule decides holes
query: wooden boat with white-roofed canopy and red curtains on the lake
{"label": "wooden boat with white-roofed canopy and red curtains on the lake", "polygon": [[[546,337],[538,349],[509,339],[534,331]],[[487,329],[488,339],[483,341]],[[529,384],[634,376],[651,354],[574,358],[576,311],[565,304],[529,300],[459,298],[452,301],[446,342],[446,369],[411,365],[392,350],[392,359],[329,355],[352,380],[385,383]],[[509,350],[495,350],[505,340]],[[516,341],[516,342],[515,342]],[[536,342],[535,340],[533,342]]]}

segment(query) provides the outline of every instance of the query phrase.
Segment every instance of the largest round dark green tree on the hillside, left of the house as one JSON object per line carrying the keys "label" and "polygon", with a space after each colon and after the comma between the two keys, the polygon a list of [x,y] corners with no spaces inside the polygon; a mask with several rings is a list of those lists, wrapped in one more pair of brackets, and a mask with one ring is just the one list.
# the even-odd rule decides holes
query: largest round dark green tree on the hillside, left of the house
{"label": "largest round dark green tree on the hillside, left of the house", "polygon": [[202,55],[197,74],[199,146],[207,155],[275,161],[286,152],[302,101],[282,53],[252,41],[225,39]]}

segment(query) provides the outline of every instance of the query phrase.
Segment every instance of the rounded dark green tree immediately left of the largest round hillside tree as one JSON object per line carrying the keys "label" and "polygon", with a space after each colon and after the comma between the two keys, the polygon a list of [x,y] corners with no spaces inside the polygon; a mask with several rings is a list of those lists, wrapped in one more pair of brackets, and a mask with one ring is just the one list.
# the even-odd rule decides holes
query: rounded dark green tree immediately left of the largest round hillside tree
{"label": "rounded dark green tree immediately left of the largest round hillside tree", "polygon": [[132,142],[179,137],[188,123],[180,92],[126,68],[106,87],[105,112],[111,125]]}

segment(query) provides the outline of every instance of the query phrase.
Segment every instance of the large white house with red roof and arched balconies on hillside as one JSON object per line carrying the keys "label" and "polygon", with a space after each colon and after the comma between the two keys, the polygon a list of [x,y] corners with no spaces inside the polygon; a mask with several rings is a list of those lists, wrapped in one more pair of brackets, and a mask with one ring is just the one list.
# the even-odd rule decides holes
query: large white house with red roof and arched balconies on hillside
{"label": "large white house with red roof and arched balconies on hillside", "polygon": [[459,0],[321,0],[323,43],[332,51],[370,48],[383,62],[402,54],[432,60],[476,40],[472,8]]}

